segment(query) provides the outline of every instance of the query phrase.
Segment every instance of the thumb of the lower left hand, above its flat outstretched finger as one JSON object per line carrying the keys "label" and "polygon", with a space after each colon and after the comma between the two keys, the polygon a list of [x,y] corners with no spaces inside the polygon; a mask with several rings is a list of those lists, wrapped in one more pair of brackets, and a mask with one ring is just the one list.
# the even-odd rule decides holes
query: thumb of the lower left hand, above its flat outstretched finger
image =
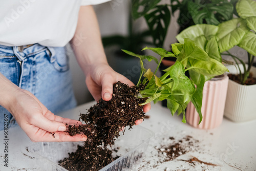
{"label": "thumb of the lower left hand, above its flat outstretched finger", "polygon": [[[47,111],[47,113],[50,113],[50,114],[46,114],[46,115],[52,115],[50,111]],[[48,132],[66,131],[65,123],[49,120],[42,114],[33,115],[33,117],[30,119],[29,124],[35,125],[40,129]]]}

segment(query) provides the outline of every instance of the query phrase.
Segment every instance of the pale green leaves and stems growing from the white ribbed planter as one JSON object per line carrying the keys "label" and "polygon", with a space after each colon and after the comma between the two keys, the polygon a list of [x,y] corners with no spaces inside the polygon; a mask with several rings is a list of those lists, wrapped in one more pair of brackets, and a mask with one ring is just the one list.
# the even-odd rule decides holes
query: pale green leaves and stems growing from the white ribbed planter
{"label": "pale green leaves and stems growing from the white ribbed planter", "polygon": [[[197,46],[220,62],[222,61],[221,55],[231,56],[240,71],[240,83],[244,84],[249,76],[254,56],[256,56],[256,2],[239,0],[236,10],[237,18],[230,19],[218,26],[207,24],[190,26],[177,35],[176,38],[181,43],[184,42],[184,38],[194,40]],[[248,67],[242,59],[229,52],[234,46],[239,46],[247,51]],[[212,51],[212,47],[218,47],[218,51]],[[242,63],[244,74],[242,74],[239,63]],[[192,72],[193,70],[189,71],[189,73]],[[191,76],[195,75],[197,74]],[[196,77],[199,77],[199,75]]]}

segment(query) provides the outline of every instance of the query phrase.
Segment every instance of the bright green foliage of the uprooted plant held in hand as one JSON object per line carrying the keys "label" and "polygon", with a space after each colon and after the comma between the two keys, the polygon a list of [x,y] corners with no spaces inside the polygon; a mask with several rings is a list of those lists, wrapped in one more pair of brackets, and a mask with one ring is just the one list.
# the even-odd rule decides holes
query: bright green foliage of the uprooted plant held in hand
{"label": "bright green foliage of the uprooted plant held in hand", "polygon": [[[182,113],[182,122],[186,122],[185,108],[191,101],[199,114],[200,123],[202,121],[202,92],[205,77],[214,77],[228,71],[220,61],[210,55],[212,52],[218,52],[218,46],[211,46],[211,44],[208,44],[208,46],[211,50],[205,51],[200,46],[196,45],[195,41],[185,38],[182,44],[172,44],[173,53],[162,48],[146,47],[143,49],[152,50],[160,55],[160,61],[154,56],[138,55],[123,50],[129,55],[140,58],[141,72],[137,86],[143,84],[145,89],[140,91],[138,98],[147,98],[141,105],[150,103],[151,101],[156,102],[166,99],[167,108],[172,115],[176,112],[178,115]],[[164,70],[165,73],[161,77],[157,77],[155,74],[162,59],[166,57],[176,57],[177,60],[173,66]],[[158,67],[154,72],[152,72],[151,69],[146,70],[144,68],[144,59],[147,59],[148,61],[155,60],[155,62],[158,63]],[[196,76],[192,76],[190,79],[185,76],[186,71],[193,71]],[[198,75],[199,77],[197,77]],[[142,76],[144,76],[143,80]]]}

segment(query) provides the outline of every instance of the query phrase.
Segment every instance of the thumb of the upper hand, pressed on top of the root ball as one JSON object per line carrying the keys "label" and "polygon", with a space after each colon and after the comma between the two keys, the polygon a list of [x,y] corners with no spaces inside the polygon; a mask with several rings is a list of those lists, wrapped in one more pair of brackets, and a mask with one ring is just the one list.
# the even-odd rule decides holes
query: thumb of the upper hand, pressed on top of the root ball
{"label": "thumb of the upper hand, pressed on top of the root ball", "polygon": [[105,101],[109,101],[112,98],[113,94],[113,77],[110,74],[105,74],[101,79],[101,97]]}

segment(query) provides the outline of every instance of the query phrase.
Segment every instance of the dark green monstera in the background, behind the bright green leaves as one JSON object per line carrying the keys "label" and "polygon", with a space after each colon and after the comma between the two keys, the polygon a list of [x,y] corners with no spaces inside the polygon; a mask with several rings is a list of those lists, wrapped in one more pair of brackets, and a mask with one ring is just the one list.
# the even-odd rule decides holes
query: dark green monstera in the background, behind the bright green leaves
{"label": "dark green monstera in the background, behind the bright green leaves", "polygon": [[[150,3],[150,4],[149,4]],[[232,18],[236,13],[233,6],[236,1],[191,1],[191,0],[171,0],[170,3],[163,1],[133,1],[133,16],[138,18],[143,16],[150,28],[151,36],[156,47],[162,47],[166,37],[167,28],[170,24],[170,14],[179,11],[177,23],[179,32],[195,24],[218,25]],[[141,10],[143,9],[143,10]],[[157,44],[158,42],[158,44]],[[164,58],[161,61],[161,72],[175,63],[175,57]],[[162,74],[164,74],[162,72]],[[186,75],[189,76],[188,72]],[[207,86],[206,86],[207,87]],[[167,101],[162,102],[164,106]],[[201,124],[202,125],[202,124]]]}

